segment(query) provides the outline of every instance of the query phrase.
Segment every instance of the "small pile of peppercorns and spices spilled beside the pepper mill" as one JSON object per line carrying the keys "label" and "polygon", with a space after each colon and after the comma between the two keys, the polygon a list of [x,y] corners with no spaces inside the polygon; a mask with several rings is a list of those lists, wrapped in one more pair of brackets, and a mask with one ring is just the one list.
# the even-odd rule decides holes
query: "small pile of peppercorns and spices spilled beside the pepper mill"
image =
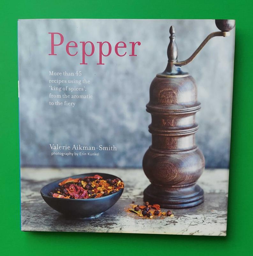
{"label": "small pile of peppercorns and spices spilled beside the pepper mill", "polygon": [[[146,218],[150,218],[153,219],[154,217],[159,217],[159,216],[169,216],[169,217],[173,217],[174,214],[171,211],[167,211],[167,212],[161,212],[161,208],[159,204],[149,204],[148,202],[145,203],[145,205],[134,205],[130,204],[132,206],[132,208],[128,209],[128,211],[133,212],[138,214],[140,217],[146,217]],[[154,209],[154,210],[153,210]]]}

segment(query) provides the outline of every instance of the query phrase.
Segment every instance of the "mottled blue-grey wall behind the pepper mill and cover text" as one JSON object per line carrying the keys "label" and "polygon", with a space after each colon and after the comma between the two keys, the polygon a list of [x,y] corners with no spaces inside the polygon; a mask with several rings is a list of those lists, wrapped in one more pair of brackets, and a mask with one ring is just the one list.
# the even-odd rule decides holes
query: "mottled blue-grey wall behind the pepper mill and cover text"
{"label": "mottled blue-grey wall behind the pepper mill and cover text", "polygon": [[[151,144],[151,117],[145,105],[153,77],[167,64],[170,25],[176,29],[179,60],[218,30],[214,20],[19,20],[21,165],[141,167]],[[48,56],[48,32],[64,36],[57,56]],[[140,41],[141,46],[137,57],[111,54],[103,58],[102,66],[96,65],[95,53],[87,58],[88,65],[79,65],[81,53],[70,57],[64,51],[65,42],[71,40]],[[206,167],[229,165],[233,65],[234,30],[230,37],[213,38],[183,68],[198,84],[202,109],[197,113],[196,137]],[[74,108],[49,106],[49,70],[82,70],[82,78],[91,80],[87,92],[93,99],[76,100]],[[99,157],[51,156],[49,143],[114,144],[118,150]]]}

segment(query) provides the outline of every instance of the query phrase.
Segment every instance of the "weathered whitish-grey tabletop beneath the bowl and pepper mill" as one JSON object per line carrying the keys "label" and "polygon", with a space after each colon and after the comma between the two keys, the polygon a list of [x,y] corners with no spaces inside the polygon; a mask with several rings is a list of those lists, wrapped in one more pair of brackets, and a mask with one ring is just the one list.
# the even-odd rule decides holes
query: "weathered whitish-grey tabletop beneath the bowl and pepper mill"
{"label": "weathered whitish-grey tabletop beneath the bowl and pepper mill", "polygon": [[[46,184],[89,172],[114,174],[125,183],[121,198],[106,212],[91,218],[69,219],[42,199],[40,189]],[[147,219],[127,210],[133,201],[143,204],[143,190],[150,184],[140,169],[21,168],[21,230],[226,236],[228,176],[227,169],[205,170],[197,182],[205,191],[203,204],[172,210],[173,218]]]}

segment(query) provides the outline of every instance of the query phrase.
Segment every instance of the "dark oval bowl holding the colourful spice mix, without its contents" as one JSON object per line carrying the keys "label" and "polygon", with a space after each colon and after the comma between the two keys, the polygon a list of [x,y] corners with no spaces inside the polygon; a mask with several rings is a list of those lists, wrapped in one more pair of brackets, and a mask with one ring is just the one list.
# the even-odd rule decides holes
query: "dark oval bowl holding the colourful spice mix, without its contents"
{"label": "dark oval bowl holding the colourful spice mix, without its contents", "polygon": [[[111,174],[97,173],[97,172],[84,173],[84,174],[79,174],[79,175],[70,176],[70,177],[76,179],[76,178],[84,178],[86,176],[94,176],[95,174],[102,176],[103,179],[105,180],[107,179],[113,180],[118,178]],[[119,200],[120,196],[123,193],[123,188],[122,188],[112,195],[103,196],[99,198],[68,199],[68,198],[57,198],[57,197],[49,196],[49,193],[54,191],[58,187],[58,184],[61,181],[66,180],[67,178],[56,180],[44,186],[43,188],[41,188],[41,196],[50,207],[52,207],[58,212],[61,212],[65,215],[68,215],[74,218],[91,217],[91,216],[100,214],[102,212],[105,212]]]}

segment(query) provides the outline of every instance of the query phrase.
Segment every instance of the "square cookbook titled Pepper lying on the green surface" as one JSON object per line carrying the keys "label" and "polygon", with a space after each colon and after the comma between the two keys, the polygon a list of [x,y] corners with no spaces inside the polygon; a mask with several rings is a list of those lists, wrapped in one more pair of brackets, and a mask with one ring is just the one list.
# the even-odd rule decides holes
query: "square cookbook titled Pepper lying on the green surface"
{"label": "square cookbook titled Pepper lying on the green surface", "polygon": [[19,20],[21,230],[226,236],[234,30]]}

